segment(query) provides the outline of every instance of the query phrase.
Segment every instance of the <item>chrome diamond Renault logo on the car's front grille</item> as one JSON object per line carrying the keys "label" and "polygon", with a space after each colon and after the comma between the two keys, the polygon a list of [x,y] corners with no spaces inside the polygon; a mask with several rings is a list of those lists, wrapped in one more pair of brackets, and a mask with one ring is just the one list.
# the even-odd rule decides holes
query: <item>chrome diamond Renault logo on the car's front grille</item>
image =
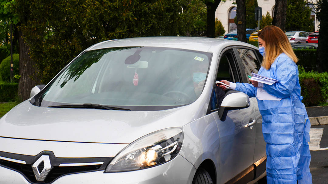
{"label": "chrome diamond Renault logo on the car's front grille", "polygon": [[52,169],[49,155],[42,155],[32,165],[33,173],[37,181],[44,181]]}

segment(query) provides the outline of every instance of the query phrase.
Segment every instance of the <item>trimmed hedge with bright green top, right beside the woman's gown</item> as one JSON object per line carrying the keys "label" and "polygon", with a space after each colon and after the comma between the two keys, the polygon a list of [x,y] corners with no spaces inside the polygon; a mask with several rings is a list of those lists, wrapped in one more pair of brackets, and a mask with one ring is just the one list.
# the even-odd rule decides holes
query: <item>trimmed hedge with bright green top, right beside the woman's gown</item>
{"label": "trimmed hedge with bright green top, right beside the woman's gown", "polygon": [[326,102],[328,99],[328,72],[305,72],[302,66],[298,66],[298,69],[304,105],[328,105]]}

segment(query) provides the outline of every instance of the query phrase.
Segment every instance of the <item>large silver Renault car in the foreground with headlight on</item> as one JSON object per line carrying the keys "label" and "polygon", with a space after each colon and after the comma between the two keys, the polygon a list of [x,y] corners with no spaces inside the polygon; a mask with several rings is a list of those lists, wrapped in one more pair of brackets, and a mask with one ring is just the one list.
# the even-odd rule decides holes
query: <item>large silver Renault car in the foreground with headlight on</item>
{"label": "large silver Renault car in the foreground with headlight on", "polygon": [[256,98],[215,81],[248,82],[259,61],[255,46],[223,39],[95,44],[0,119],[0,183],[256,181]]}

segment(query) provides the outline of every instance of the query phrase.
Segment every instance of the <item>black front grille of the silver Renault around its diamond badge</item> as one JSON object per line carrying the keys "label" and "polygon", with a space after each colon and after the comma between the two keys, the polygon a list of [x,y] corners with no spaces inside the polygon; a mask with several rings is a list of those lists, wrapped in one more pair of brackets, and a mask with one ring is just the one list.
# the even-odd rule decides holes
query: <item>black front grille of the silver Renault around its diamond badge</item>
{"label": "black front grille of the silver Renault around its diamond badge", "polygon": [[[4,153],[4,152],[2,152]],[[41,152],[42,153],[42,152]],[[1,155],[1,152],[0,152]],[[13,155],[13,154],[11,154]],[[31,158],[32,156],[26,156],[27,158]],[[37,157],[37,156],[35,156]],[[9,158],[9,157],[7,157]],[[21,160],[25,160],[22,159],[22,156],[20,155]],[[76,173],[85,173],[85,172],[92,172],[92,171],[101,171],[101,170],[105,170],[106,166],[108,165],[108,163],[113,159],[113,157],[106,157],[106,158],[54,158],[52,157],[53,163],[52,164],[52,169],[50,170],[49,174],[47,175],[47,177],[44,179],[44,181],[37,181],[33,170],[32,170],[32,165],[34,161],[31,161],[29,159],[26,159],[26,164],[23,163],[17,163],[14,161],[9,161],[9,160],[5,160],[5,159],[0,159],[0,166],[3,166],[5,168],[17,171],[19,173],[21,173],[29,182],[34,183],[34,184],[39,184],[39,183],[51,183],[54,180],[56,180],[57,178],[61,177],[61,176],[65,176],[65,175],[69,175],[69,174],[76,174]],[[59,161],[58,161],[59,160]],[[95,165],[83,165],[83,166],[64,166],[64,167],[59,167],[60,162],[62,163],[76,163],[76,161],[79,161],[80,163],[88,163],[88,162],[92,162],[92,163],[97,163],[97,161],[99,162],[103,162],[102,164],[95,164]],[[69,162],[69,161],[73,161],[73,162]],[[98,163],[99,163],[98,162]],[[42,170],[42,168],[44,167],[42,164],[40,164],[39,166],[39,170]],[[40,168],[41,167],[41,168]]]}

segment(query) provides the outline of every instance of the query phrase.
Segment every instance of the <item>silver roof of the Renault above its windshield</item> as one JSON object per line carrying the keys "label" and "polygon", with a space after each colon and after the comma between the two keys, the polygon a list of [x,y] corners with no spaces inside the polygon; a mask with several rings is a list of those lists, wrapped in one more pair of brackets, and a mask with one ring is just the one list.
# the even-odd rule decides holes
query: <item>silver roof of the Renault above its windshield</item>
{"label": "silver roof of the Renault above its windshield", "polygon": [[120,40],[108,40],[92,45],[85,51],[97,50],[111,47],[168,47],[177,49],[188,49],[201,52],[215,52],[217,49],[223,49],[228,46],[248,46],[256,49],[257,47],[239,41],[226,39],[206,38],[206,37],[139,37]]}

